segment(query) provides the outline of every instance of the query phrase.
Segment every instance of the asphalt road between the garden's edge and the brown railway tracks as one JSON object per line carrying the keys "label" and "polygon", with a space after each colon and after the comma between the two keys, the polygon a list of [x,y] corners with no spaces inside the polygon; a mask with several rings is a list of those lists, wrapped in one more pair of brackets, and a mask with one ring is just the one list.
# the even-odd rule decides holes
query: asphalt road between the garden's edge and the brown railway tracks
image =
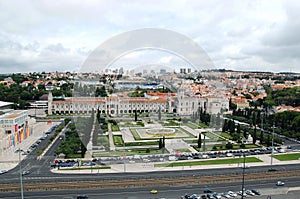
{"label": "asphalt road between the garden's edge and the brown railway tracks", "polygon": [[[48,156],[51,158],[52,156]],[[54,155],[53,155],[54,159]],[[223,169],[200,169],[200,170],[178,170],[178,171],[163,171],[163,172],[149,172],[149,173],[116,173],[116,174],[56,174],[50,172],[49,159],[36,160],[34,156],[28,156],[22,161],[25,169],[30,169],[31,173],[23,176],[24,183],[26,182],[69,182],[88,181],[88,180],[122,180],[122,179],[148,179],[148,178],[178,178],[178,177],[192,177],[192,176],[215,176],[238,174],[242,175],[241,168],[223,168]],[[48,166],[47,166],[48,164]],[[35,171],[34,168],[37,168]],[[245,170],[245,173],[265,173],[268,172],[270,166],[250,167]],[[300,164],[294,165],[274,165],[278,171],[293,171],[300,172]],[[18,183],[19,167],[1,175],[2,183]]]}

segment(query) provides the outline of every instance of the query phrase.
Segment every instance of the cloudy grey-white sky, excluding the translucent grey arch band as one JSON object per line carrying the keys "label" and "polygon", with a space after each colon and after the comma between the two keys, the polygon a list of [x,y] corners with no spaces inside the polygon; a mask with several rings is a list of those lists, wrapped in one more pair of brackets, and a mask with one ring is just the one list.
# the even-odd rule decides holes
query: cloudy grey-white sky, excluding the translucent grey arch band
{"label": "cloudy grey-white sky, excluding the translucent grey arch band", "polygon": [[[299,10],[296,0],[0,0],[0,73],[78,71],[105,41],[143,28],[185,35],[216,68],[300,72]],[[114,64],[186,64],[132,50]]]}

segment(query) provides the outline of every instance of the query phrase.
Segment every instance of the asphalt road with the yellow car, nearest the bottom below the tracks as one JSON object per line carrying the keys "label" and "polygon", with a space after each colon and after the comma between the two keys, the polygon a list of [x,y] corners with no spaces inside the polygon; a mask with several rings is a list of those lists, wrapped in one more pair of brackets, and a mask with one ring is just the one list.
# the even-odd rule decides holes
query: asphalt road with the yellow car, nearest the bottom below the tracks
{"label": "asphalt road with the yellow car, nearest the bottom below the tracks", "polygon": [[[283,187],[276,187],[274,180],[258,180],[245,182],[246,189],[258,189],[262,193],[261,196],[254,196],[251,198],[263,199],[268,195],[272,196],[272,199],[299,199],[300,190],[289,191],[289,187],[294,187],[300,184],[300,179],[286,179],[284,180],[286,185]],[[78,194],[87,194],[89,199],[96,198],[113,198],[113,199],[178,199],[185,193],[198,195],[203,194],[205,188],[210,188],[218,193],[225,191],[239,191],[241,190],[241,182],[220,183],[220,184],[208,184],[197,186],[176,186],[176,187],[150,187],[150,188],[126,188],[126,189],[101,189],[101,190],[57,190],[57,191],[39,191],[39,192],[25,192],[25,198],[41,199],[41,198],[57,198],[67,199],[75,197]],[[150,194],[151,189],[158,190],[157,194]],[[0,193],[0,198],[16,199],[20,198],[20,193]],[[76,197],[75,197],[76,198]],[[240,197],[237,197],[240,198]],[[248,197],[247,197],[248,198]]]}

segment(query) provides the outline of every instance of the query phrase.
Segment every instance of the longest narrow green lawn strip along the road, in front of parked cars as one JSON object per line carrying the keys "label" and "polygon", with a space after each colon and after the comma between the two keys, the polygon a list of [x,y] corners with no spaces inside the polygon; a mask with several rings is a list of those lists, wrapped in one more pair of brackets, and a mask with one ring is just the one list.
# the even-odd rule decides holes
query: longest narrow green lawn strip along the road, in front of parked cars
{"label": "longest narrow green lawn strip along the road, in front of parked cars", "polygon": [[[155,167],[180,167],[180,166],[198,166],[198,165],[213,165],[213,164],[238,164],[244,161],[243,158],[230,158],[219,160],[203,160],[203,161],[189,161],[189,162],[172,162],[155,164]],[[262,160],[255,157],[246,157],[246,163],[262,162]]]}

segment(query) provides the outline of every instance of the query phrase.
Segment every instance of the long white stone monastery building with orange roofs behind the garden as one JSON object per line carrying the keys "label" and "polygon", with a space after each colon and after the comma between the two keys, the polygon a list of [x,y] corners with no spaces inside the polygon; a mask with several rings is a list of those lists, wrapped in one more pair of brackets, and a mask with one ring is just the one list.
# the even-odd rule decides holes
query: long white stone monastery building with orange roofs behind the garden
{"label": "long white stone monastery building with orange roofs behind the garden", "polygon": [[177,96],[149,97],[73,97],[53,101],[49,99],[48,114],[88,114],[99,110],[102,114],[118,116],[134,113],[176,113],[191,115],[200,107],[209,114],[218,114],[229,109],[226,98],[199,97],[185,95],[184,91]]}

